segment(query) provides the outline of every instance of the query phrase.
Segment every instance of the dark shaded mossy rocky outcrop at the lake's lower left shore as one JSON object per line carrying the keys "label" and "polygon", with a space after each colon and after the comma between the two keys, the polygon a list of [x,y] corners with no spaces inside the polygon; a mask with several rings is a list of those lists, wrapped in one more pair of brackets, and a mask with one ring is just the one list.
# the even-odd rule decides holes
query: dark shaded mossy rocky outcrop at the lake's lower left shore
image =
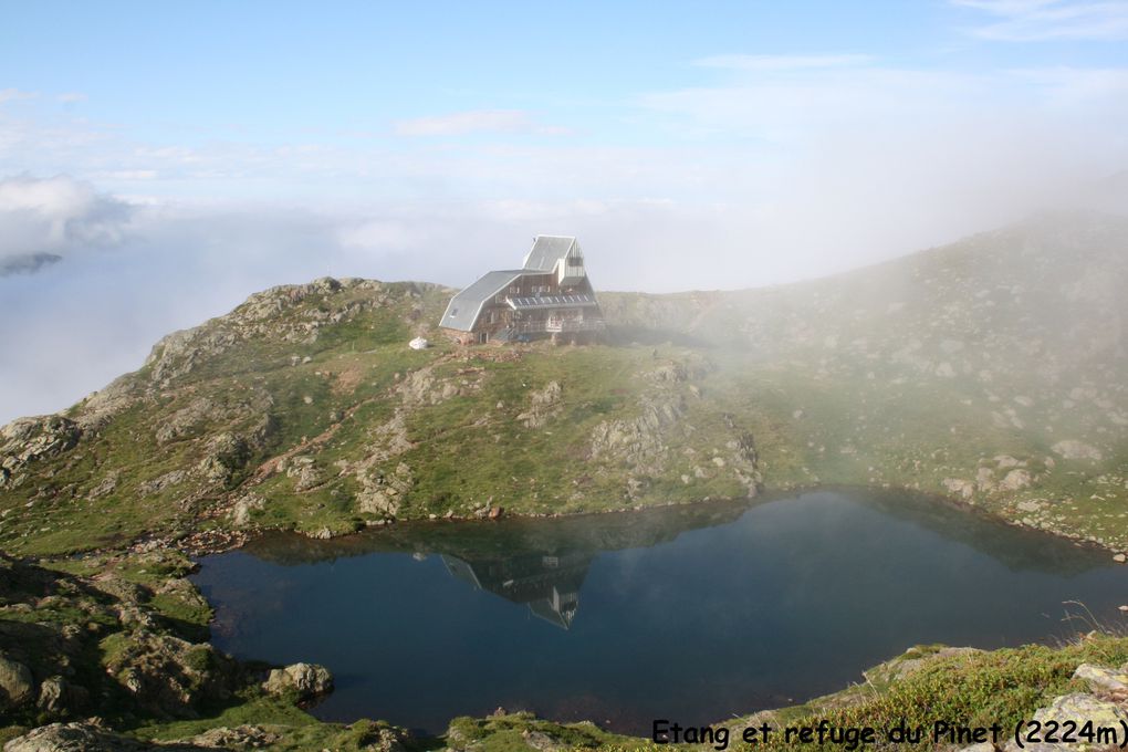
{"label": "dark shaded mossy rocky outcrop at the lake's lower left shore", "polygon": [[[111,702],[185,718],[229,696],[231,661],[187,638],[206,638],[211,613],[195,586],[175,576],[187,572],[187,560],[156,552],[130,564],[168,574],[148,586],[112,564],[79,577],[0,556],[0,716],[67,720]],[[176,620],[155,603],[171,608]]]}

